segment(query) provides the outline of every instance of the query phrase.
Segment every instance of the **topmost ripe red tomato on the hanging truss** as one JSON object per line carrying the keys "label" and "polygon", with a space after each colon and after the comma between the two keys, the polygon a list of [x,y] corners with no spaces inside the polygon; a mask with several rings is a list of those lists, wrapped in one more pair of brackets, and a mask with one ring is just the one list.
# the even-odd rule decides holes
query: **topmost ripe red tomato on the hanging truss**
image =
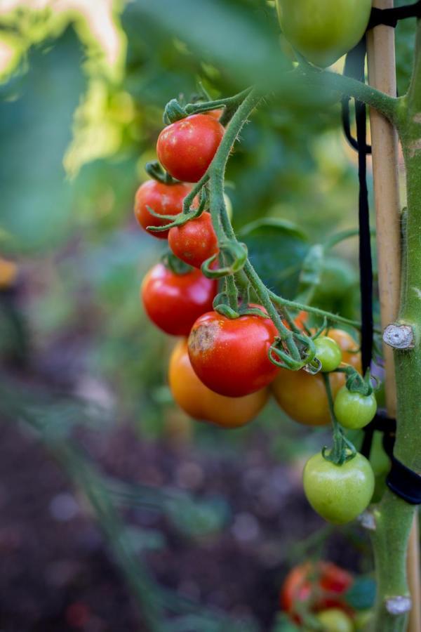
{"label": "topmost ripe red tomato on the hanging truss", "polygon": [[175,121],[159,134],[159,161],[173,178],[198,182],[212,162],[224,132],[220,122],[206,114]]}

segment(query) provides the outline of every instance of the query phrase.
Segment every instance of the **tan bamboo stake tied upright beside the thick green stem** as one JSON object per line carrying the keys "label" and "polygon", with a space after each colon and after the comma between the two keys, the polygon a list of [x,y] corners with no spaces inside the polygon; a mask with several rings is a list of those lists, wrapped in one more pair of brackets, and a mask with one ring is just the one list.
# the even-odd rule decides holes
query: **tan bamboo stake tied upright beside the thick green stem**
{"label": "tan bamboo stake tied upright beside the thick green stem", "polygon": [[[373,0],[377,8],[392,8],[393,0]],[[367,34],[368,81],[371,86],[396,96],[394,29],[379,25]],[[396,320],[399,311],[401,238],[399,225],[398,138],[394,126],[370,109],[371,145],[379,268],[380,313],[383,329]],[[396,386],[393,350],[384,345],[386,404],[396,416]],[[421,631],[420,546],[415,517],[408,546],[408,584],[413,607],[408,632]]]}

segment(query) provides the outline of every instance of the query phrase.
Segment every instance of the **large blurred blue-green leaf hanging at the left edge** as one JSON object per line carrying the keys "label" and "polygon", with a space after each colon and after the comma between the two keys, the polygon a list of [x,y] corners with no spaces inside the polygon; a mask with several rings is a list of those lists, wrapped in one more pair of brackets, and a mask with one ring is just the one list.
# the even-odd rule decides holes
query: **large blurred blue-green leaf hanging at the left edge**
{"label": "large blurred blue-green leaf hanging at the left edge", "polygon": [[0,100],[0,225],[15,250],[51,248],[69,235],[74,192],[62,157],[83,90],[80,62],[76,38],[67,32],[48,51],[29,54],[30,70],[13,100]]}

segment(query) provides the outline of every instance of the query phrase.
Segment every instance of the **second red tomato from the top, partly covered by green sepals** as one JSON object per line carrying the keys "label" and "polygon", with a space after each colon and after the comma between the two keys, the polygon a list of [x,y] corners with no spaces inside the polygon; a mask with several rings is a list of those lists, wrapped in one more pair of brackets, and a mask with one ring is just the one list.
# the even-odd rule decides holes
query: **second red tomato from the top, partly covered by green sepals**
{"label": "second red tomato from the top, partly covered by green sepals", "polygon": [[[147,206],[150,206],[160,215],[178,215],[182,211],[182,203],[192,187],[185,183],[166,185],[157,180],[147,180],[138,190],[135,196],[135,217],[145,230],[147,226],[165,226],[168,220],[160,220],[149,213]],[[163,232],[152,232],[147,230],[149,235],[166,239],[168,230]]]}

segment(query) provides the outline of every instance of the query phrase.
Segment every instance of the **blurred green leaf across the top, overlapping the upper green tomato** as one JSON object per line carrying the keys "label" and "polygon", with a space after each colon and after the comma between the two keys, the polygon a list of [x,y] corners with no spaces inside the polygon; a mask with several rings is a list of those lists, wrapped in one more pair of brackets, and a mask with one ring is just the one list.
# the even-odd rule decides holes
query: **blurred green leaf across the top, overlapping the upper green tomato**
{"label": "blurred green leaf across the top, overlapping the upper green tomato", "polygon": [[170,37],[177,37],[201,62],[229,73],[237,85],[253,81],[279,82],[290,62],[279,46],[279,26],[273,7],[244,0],[135,0],[124,19],[150,20]]}

